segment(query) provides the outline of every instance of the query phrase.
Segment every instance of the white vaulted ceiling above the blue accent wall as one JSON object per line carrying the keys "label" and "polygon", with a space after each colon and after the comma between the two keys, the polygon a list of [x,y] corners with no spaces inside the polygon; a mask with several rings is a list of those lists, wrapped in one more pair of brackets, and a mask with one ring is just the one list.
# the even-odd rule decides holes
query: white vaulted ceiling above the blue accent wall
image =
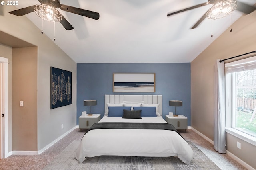
{"label": "white vaulted ceiling above the blue accent wall", "polygon": [[[166,15],[204,2],[207,0],[60,0],[61,4],[99,12],[100,18],[93,20],[59,9],[74,30],[66,31],[56,23],[56,41],[54,23],[44,21],[43,31],[76,63],[191,62],[230,27],[230,16],[213,21],[206,18],[191,30],[212,5]],[[253,5],[256,0],[240,2]],[[35,4],[40,2],[21,0],[17,8]],[[232,23],[242,15],[235,10]],[[26,17],[42,29],[42,20],[34,12]]]}

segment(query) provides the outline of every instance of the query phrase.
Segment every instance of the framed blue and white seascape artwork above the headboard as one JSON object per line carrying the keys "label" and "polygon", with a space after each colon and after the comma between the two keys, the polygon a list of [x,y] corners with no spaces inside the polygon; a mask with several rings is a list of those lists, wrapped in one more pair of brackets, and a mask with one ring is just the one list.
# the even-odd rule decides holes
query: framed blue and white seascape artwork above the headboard
{"label": "framed blue and white seascape artwork above the headboard", "polygon": [[113,92],[155,92],[155,74],[114,73]]}

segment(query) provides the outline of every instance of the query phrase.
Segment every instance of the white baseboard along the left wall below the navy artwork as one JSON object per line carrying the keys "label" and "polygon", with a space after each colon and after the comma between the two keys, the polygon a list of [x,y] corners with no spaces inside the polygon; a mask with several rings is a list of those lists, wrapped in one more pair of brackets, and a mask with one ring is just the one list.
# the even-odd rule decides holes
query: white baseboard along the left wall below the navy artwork
{"label": "white baseboard along the left wall below the navy artwork", "polygon": [[[12,155],[38,155],[41,154],[42,152],[44,152],[46,149],[50,148],[52,145],[54,145],[56,142],[58,142],[60,139],[62,139],[63,137],[65,137],[66,135],[68,135],[68,133],[72,132],[74,129],[78,128],[78,126],[73,127],[72,129],[70,129],[69,131],[67,131],[66,133],[64,133],[63,135],[61,135],[60,137],[58,137],[57,139],[55,139],[54,141],[52,141],[51,143],[49,143],[48,145],[46,145],[43,149],[38,150],[38,151],[12,151],[10,152],[10,154]],[[9,155],[10,156],[10,155]]]}

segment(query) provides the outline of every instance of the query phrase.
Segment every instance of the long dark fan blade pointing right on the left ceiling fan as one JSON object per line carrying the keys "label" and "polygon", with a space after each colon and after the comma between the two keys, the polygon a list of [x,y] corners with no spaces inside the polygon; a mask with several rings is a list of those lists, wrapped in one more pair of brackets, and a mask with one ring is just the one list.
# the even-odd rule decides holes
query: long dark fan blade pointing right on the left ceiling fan
{"label": "long dark fan blade pointing right on the left ceiling fan", "polygon": [[74,14],[78,14],[81,16],[89,17],[94,20],[98,20],[100,18],[100,14],[98,12],[88,11],[88,10],[84,10],[81,8],[76,8],[76,7],[60,4],[60,9],[67,11],[67,12],[74,13]]}

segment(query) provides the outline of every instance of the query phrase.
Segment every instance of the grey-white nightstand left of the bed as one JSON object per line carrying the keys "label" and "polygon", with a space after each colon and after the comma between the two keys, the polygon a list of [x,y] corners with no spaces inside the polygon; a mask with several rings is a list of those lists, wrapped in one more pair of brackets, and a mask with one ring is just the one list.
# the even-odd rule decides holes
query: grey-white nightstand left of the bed
{"label": "grey-white nightstand left of the bed", "polygon": [[79,129],[89,129],[94,123],[100,120],[100,114],[93,114],[92,116],[79,116]]}

